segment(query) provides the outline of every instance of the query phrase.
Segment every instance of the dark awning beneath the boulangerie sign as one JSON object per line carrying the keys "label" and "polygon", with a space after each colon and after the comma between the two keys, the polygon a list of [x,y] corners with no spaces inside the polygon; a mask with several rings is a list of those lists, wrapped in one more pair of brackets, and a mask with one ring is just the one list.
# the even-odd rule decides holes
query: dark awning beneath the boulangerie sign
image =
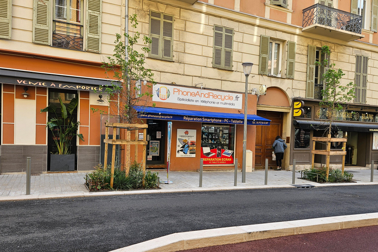
{"label": "dark awning beneath the boulangerie sign", "polygon": [[[324,130],[328,128],[329,122],[324,121],[307,121],[307,120],[293,120],[294,125],[299,126],[303,129],[319,129]],[[364,123],[341,123],[334,122],[332,124],[332,130],[343,130],[343,131],[356,131],[356,132],[378,132],[378,124],[364,124]]]}

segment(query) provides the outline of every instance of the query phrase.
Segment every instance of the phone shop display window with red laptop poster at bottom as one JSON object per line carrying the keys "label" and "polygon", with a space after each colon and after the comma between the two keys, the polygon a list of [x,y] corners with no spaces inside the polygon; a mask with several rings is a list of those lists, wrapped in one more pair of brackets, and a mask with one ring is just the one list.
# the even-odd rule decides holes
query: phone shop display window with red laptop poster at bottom
{"label": "phone shop display window with red laptop poster at bottom", "polygon": [[234,125],[202,124],[201,158],[203,164],[234,163]]}

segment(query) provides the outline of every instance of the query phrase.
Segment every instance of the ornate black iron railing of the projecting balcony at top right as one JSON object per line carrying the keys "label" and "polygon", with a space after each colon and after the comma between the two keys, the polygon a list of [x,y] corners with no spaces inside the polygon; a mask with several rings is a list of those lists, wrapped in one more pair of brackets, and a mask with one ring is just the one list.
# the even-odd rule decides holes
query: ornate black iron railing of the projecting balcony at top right
{"label": "ornate black iron railing of the projecting balcony at top right", "polygon": [[303,28],[318,24],[361,34],[362,16],[316,3],[303,10]]}

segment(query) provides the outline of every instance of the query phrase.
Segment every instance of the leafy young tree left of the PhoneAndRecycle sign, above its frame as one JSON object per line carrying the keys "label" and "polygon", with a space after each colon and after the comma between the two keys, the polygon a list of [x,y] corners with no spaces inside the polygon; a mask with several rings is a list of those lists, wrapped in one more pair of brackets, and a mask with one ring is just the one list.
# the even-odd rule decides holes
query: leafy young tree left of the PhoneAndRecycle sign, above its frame
{"label": "leafy young tree left of the PhoneAndRecycle sign, above its frame", "polygon": [[[137,15],[129,16],[131,27],[137,28]],[[107,62],[103,62],[103,68],[112,82],[111,87],[105,88],[108,94],[109,101],[113,102],[114,106],[110,106],[111,114],[119,115],[122,123],[137,123],[138,112],[134,106],[146,106],[149,99],[152,97],[152,87],[156,82],[153,79],[154,74],[151,69],[145,68],[145,53],[150,51],[148,45],[151,39],[143,36],[144,46],[138,52],[139,32],[132,32],[132,35],[124,34],[127,44],[122,41],[120,34],[116,34],[114,54],[112,57],[106,57]],[[147,83],[144,85],[144,83]]]}

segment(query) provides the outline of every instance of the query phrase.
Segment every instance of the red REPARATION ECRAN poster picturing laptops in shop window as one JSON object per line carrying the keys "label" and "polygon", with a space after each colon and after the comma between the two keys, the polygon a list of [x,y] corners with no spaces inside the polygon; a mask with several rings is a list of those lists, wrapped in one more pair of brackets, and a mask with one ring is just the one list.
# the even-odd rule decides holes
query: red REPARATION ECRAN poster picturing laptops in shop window
{"label": "red REPARATION ECRAN poster picturing laptops in shop window", "polygon": [[201,158],[203,158],[203,164],[218,165],[234,163],[233,151],[223,150],[221,146],[215,149],[201,147]]}

